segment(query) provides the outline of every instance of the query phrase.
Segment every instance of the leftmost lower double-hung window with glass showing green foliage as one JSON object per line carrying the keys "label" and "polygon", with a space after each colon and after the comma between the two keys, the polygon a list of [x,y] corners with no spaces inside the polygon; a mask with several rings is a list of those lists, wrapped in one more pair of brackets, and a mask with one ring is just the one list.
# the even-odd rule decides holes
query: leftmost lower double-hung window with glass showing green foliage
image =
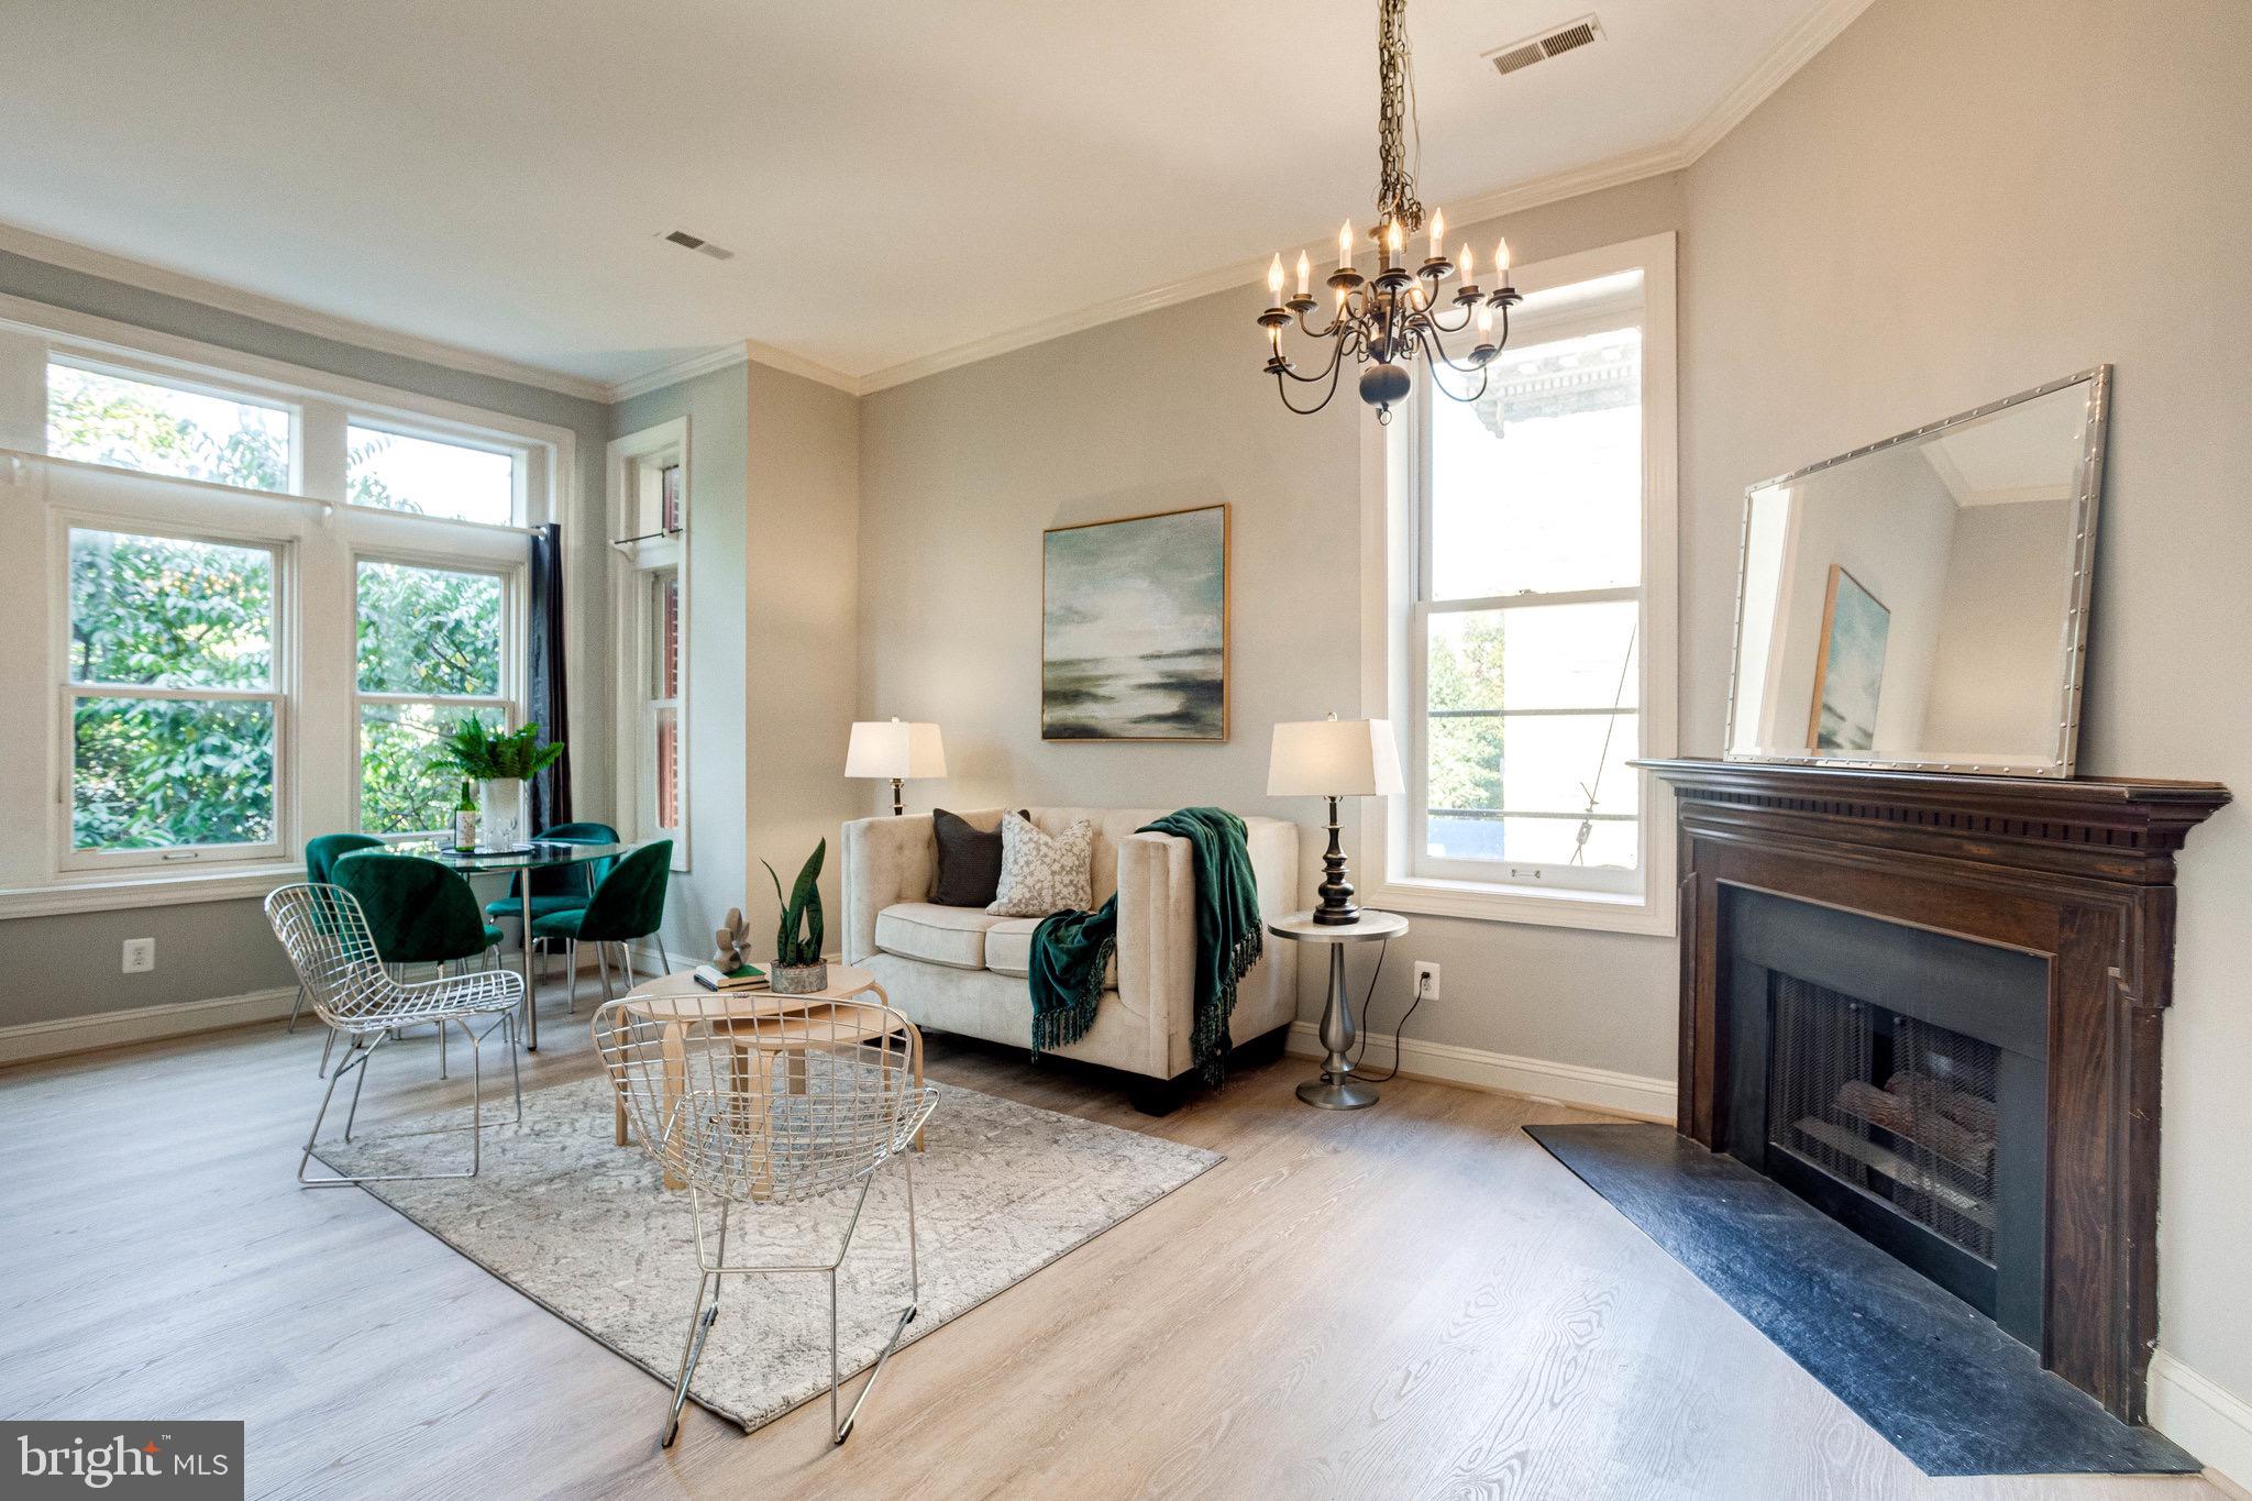
{"label": "leftmost lower double-hung window with glass showing green foliage", "polygon": [[65,869],[279,851],[284,554],[68,529]]}

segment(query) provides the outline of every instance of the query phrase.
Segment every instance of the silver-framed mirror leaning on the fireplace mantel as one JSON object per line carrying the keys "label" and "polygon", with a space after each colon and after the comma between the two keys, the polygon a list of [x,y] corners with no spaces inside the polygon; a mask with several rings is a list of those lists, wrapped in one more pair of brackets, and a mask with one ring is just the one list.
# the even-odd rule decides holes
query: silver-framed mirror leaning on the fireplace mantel
{"label": "silver-framed mirror leaning on the fireplace mantel", "polygon": [[1745,488],[1730,761],[2072,776],[2110,367]]}

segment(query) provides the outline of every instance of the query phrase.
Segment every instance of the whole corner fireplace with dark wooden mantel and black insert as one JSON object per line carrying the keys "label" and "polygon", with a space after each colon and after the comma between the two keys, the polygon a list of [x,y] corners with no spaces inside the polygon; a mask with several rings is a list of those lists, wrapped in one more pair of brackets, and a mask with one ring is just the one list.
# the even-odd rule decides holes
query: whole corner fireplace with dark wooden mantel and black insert
{"label": "whole corner fireplace with dark wooden mantel and black insert", "polygon": [[1680,1132],[2142,1422],[2173,857],[2227,788],[1639,765],[1680,806]]}

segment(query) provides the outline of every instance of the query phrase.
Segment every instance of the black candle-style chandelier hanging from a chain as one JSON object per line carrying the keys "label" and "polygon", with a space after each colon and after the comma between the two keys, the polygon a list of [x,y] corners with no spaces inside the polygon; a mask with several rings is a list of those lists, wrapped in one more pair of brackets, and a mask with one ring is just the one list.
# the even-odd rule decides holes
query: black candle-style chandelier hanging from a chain
{"label": "black candle-style chandelier hanging from a chain", "polygon": [[[1344,360],[1362,365],[1360,401],[1376,407],[1376,421],[1392,421],[1392,405],[1403,401],[1414,380],[1407,367],[1421,358],[1430,365],[1430,385],[1453,401],[1477,401],[1486,394],[1486,365],[1502,353],[1509,342],[1509,308],[1522,297],[1509,286],[1509,241],[1493,250],[1495,290],[1480,290],[1471,272],[1471,248],[1464,245],[1459,259],[1446,259],[1446,216],[1430,216],[1430,254],[1423,263],[1407,268],[1407,241],[1423,230],[1423,205],[1414,196],[1414,173],[1407,164],[1407,149],[1401,128],[1412,124],[1414,79],[1407,56],[1407,0],[1378,0],[1376,23],[1376,81],[1378,115],[1376,142],[1380,178],[1376,185],[1376,272],[1362,277],[1353,266],[1353,223],[1338,230],[1338,270],[1329,277],[1335,308],[1329,324],[1315,329],[1306,315],[1322,306],[1311,293],[1313,266],[1302,250],[1297,254],[1297,297],[1281,295],[1284,268],[1277,254],[1268,266],[1268,295],[1272,304],[1259,315],[1259,326],[1268,335],[1266,369],[1275,376],[1275,394],[1281,405],[1299,416],[1313,416],[1338,394],[1338,378]],[[1453,295],[1441,297],[1441,286],[1459,275]],[[1448,308],[1441,308],[1441,302]],[[1329,358],[1317,374],[1299,374],[1297,362],[1281,351],[1284,329],[1311,340],[1329,342]],[[1475,324],[1475,344],[1455,358],[1446,351],[1446,338]],[[1457,380],[1462,389],[1450,389]],[[1290,401],[1290,385],[1326,387],[1311,407]]]}

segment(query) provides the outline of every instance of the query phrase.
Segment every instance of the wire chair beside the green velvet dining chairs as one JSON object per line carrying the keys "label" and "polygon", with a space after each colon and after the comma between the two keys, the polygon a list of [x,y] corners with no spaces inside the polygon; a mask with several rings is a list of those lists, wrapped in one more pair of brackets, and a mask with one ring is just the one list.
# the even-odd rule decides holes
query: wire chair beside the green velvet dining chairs
{"label": "wire chair beside the green velvet dining chairs", "polygon": [[[484,1145],[484,1069],[482,1044],[495,1031],[509,1044],[509,1078],[516,1087],[516,1123],[525,1118],[525,1080],[516,1062],[516,1010],[525,999],[525,981],[513,970],[471,970],[428,981],[399,981],[383,968],[376,941],[367,932],[367,914],[358,898],[342,887],[295,884],[282,887],[266,898],[266,920],[297,968],[313,1010],[336,1035],[347,1040],[345,1058],[329,1071],[329,1087],[320,1096],[320,1112],[313,1130],[304,1139],[304,1154],[297,1159],[297,1181],[306,1188],[333,1188],[338,1184],[392,1184],[435,1177],[475,1177]],[[480,1033],[471,1022],[493,1017]],[[329,1116],[336,1085],[345,1073],[354,1073],[351,1109],[345,1114],[345,1141],[351,1141],[351,1123],[360,1114],[360,1089],[367,1085],[367,1064],[376,1049],[392,1035],[392,1028],[432,1022],[444,1035],[448,1024],[459,1026],[468,1037],[468,1170],[466,1172],[387,1172],[365,1177],[306,1177],[313,1161],[313,1143],[320,1141],[320,1125]]]}

